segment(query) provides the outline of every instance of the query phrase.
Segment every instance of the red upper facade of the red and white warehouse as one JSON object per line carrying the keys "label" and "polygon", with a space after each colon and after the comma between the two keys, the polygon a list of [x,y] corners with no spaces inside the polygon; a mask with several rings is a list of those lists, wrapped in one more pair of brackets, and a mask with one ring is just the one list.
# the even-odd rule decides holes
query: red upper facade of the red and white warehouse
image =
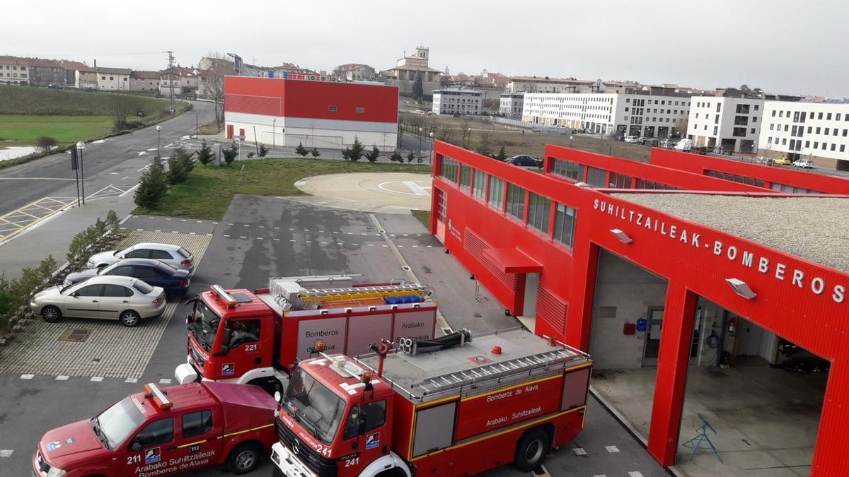
{"label": "red upper facade of the red and white warehouse", "polygon": [[256,115],[396,123],[398,88],[336,81],[225,76],[224,108]]}

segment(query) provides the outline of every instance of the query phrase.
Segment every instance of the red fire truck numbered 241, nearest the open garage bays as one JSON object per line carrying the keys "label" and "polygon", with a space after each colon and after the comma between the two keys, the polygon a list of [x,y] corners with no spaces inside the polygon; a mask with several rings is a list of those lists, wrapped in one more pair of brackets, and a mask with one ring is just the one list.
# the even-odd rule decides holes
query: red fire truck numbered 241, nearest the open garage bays
{"label": "red fire truck numbered 241, nearest the open garage bays", "polygon": [[[537,469],[583,428],[590,357],[515,328],[303,360],[277,412],[275,474],[464,476]],[[320,350],[323,346],[317,343]],[[385,362],[384,362],[385,361]]]}

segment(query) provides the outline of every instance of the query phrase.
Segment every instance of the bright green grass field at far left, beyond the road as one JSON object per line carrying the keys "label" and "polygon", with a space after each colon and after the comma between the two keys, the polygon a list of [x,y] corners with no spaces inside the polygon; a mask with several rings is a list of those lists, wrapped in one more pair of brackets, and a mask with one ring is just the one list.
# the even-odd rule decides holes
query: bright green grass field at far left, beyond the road
{"label": "bright green grass field at far left, beyond the road", "polygon": [[40,136],[70,144],[103,137],[111,131],[110,116],[0,115],[0,137],[18,143],[0,143],[0,146],[32,144]]}

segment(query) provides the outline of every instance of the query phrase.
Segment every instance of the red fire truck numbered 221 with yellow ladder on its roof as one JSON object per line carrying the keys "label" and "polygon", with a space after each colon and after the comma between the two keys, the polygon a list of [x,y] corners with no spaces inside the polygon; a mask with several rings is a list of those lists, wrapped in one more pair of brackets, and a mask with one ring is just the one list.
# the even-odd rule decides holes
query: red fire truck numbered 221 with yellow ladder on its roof
{"label": "red fire truck numbered 221 with yellow ladder on its roof", "polygon": [[419,283],[355,284],[348,275],[272,278],[255,293],[212,285],[187,318],[188,358],[175,376],[181,384],[211,379],[283,390],[316,340],[357,356],[381,338],[433,338],[432,297]]}

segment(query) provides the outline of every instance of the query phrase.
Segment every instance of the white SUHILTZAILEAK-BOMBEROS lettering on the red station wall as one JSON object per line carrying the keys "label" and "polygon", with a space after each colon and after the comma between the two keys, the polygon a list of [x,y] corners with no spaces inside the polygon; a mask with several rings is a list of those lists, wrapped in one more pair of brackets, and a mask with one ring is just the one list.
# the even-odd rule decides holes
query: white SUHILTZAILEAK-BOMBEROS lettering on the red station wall
{"label": "white SUHILTZAILEAK-BOMBEROS lettering on the red station wall", "polygon": [[629,222],[648,229],[650,232],[660,234],[688,245],[698,250],[710,250],[713,255],[722,257],[727,261],[739,263],[743,267],[756,267],[758,272],[764,276],[772,276],[775,280],[788,283],[800,289],[807,289],[814,295],[823,295],[828,289],[831,300],[835,303],[843,303],[846,300],[846,285],[842,283],[826,283],[822,277],[808,277],[806,273],[797,268],[788,269],[787,264],[771,263],[767,257],[756,256],[755,252],[739,250],[734,245],[723,244],[721,240],[710,240],[702,237],[701,233],[680,225],[666,223],[665,218],[652,217],[636,210],[629,210],[625,206],[616,205],[606,200],[594,199],[593,210],[614,216],[624,222]]}

